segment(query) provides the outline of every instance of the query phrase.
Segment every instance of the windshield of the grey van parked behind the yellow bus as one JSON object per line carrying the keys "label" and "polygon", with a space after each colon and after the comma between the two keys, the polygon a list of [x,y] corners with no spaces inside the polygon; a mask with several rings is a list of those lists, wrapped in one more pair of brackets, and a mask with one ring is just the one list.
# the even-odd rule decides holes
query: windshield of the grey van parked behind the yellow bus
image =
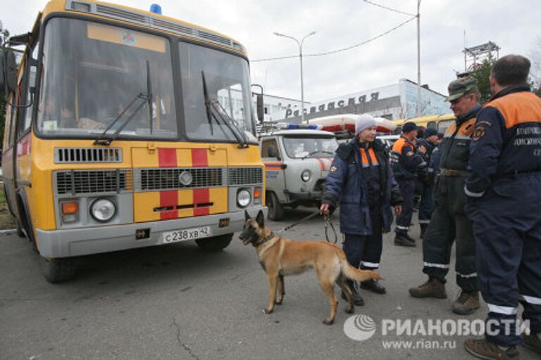
{"label": "windshield of the grey van parked behind the yellow bus", "polygon": [[286,136],[283,142],[290,158],[332,158],[338,148],[336,139],[330,136]]}

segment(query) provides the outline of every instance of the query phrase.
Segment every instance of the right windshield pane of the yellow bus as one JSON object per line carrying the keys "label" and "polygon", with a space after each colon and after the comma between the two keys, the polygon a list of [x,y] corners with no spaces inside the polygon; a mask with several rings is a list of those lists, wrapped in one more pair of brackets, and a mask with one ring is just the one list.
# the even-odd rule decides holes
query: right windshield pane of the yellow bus
{"label": "right windshield pane of the yellow bus", "polygon": [[247,60],[187,43],[179,51],[188,138],[257,143]]}

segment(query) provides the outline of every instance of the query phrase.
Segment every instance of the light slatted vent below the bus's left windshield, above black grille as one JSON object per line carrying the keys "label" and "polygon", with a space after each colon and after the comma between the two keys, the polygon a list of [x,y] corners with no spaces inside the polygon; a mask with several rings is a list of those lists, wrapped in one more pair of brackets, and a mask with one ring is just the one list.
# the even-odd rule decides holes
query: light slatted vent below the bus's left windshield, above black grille
{"label": "light slatted vent below the bus's left windshield, above black grille", "polygon": [[55,148],[55,164],[122,162],[122,148]]}

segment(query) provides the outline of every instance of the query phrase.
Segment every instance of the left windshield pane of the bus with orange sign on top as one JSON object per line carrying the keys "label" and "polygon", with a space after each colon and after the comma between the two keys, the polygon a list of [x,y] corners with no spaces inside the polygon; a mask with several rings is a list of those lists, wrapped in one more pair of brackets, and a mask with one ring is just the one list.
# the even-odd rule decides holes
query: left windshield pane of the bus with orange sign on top
{"label": "left windshield pane of the bus with orange sign on top", "polygon": [[54,18],[42,59],[40,134],[97,139],[126,121],[118,138],[178,137],[168,39]]}

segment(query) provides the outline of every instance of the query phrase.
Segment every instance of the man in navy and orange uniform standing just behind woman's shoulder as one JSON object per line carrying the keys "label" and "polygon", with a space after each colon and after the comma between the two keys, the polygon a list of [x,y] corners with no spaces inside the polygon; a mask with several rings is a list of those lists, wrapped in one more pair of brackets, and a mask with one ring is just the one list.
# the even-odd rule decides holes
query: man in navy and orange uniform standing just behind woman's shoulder
{"label": "man in navy and orange uniform standing just behind woman's shoulder", "polygon": [[402,127],[402,136],[392,146],[392,170],[397,179],[400,194],[404,198],[402,214],[397,217],[397,226],[394,229],[394,245],[415,246],[415,239],[409,236],[409,225],[413,214],[413,198],[419,167],[425,166],[425,161],[419,153],[425,153],[424,146],[419,146],[416,152],[417,125],[406,122]]}

